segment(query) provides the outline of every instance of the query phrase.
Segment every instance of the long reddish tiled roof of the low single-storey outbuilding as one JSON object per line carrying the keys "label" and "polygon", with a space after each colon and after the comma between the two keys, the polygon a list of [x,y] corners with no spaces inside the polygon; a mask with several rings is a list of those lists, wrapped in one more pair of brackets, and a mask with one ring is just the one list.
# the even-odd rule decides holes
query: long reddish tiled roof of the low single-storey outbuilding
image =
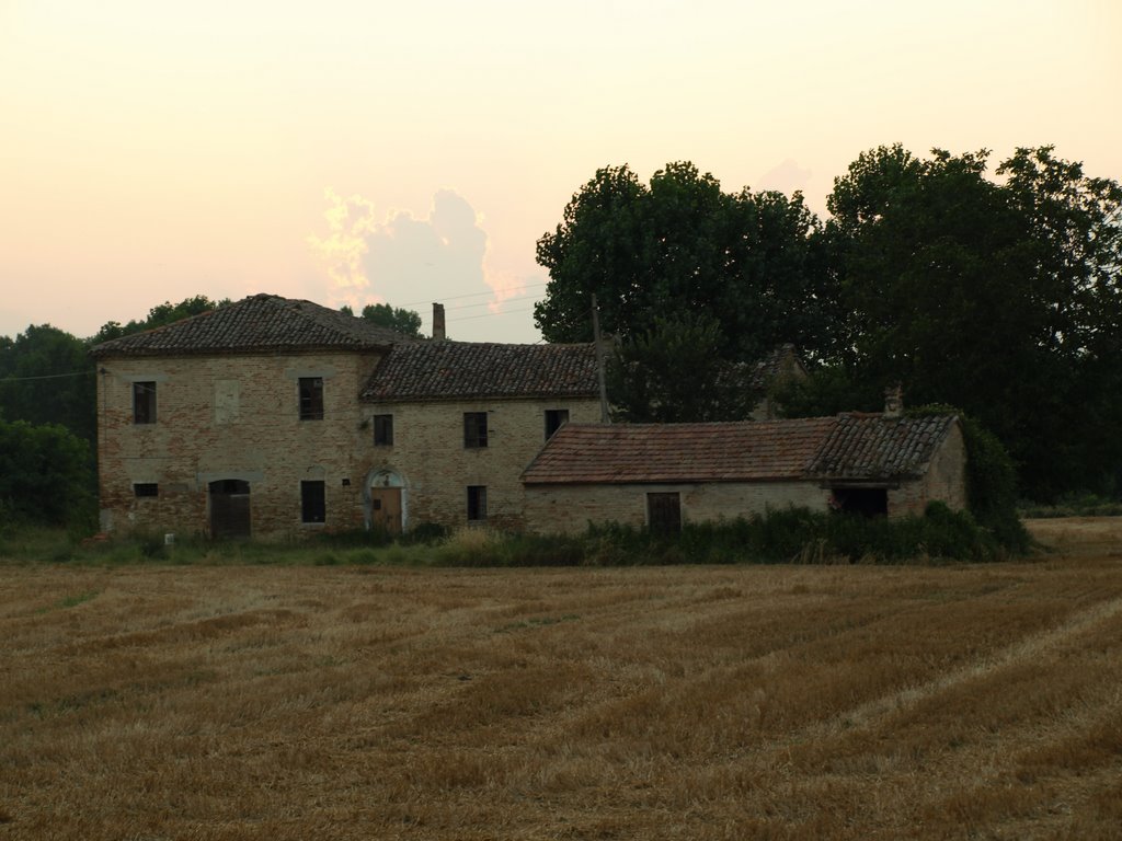
{"label": "long reddish tiled roof of the low single-storey outbuilding", "polygon": [[953,416],[839,415],[714,424],[567,424],[542,447],[522,481],[902,479],[922,474],[954,423]]}

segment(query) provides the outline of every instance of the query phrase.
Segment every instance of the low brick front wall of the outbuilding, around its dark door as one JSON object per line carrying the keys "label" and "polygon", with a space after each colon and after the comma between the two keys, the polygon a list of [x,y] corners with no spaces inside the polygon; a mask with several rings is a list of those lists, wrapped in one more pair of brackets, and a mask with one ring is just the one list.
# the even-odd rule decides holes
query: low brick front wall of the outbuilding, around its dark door
{"label": "low brick front wall of the outbuilding, around its dark door", "polygon": [[543,534],[579,534],[590,523],[647,526],[647,493],[678,493],[683,523],[736,519],[789,506],[827,510],[830,491],[818,482],[710,482],[668,484],[530,484],[526,527]]}

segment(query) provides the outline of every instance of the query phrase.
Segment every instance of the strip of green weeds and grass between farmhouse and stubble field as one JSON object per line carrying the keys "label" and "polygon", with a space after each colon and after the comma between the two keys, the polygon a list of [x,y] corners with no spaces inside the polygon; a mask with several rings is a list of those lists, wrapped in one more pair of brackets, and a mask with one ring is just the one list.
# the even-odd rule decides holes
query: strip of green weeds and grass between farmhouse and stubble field
{"label": "strip of green weeds and grass between farmhouse and stubble field", "polygon": [[[322,535],[269,544],[139,534],[75,546],[59,533],[0,535],[0,557],[16,562],[206,565],[385,566],[635,566],[675,564],[835,564],[1000,561],[1020,554],[964,511],[931,503],[922,517],[886,519],[820,514],[804,508],[718,523],[684,524],[659,535],[618,524],[590,525],[582,535],[502,534],[486,527],[425,529],[389,540],[369,533]],[[19,535],[22,535],[21,537]]]}

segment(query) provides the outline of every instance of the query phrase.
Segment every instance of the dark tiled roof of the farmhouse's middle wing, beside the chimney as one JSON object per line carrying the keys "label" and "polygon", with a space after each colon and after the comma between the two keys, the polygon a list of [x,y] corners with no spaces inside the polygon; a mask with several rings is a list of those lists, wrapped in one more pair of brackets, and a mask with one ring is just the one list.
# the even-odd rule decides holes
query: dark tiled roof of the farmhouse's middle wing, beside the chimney
{"label": "dark tiled roof of the farmhouse's middle wing, beside the chimney", "polygon": [[364,400],[460,397],[596,397],[596,350],[588,344],[416,342],[379,363]]}

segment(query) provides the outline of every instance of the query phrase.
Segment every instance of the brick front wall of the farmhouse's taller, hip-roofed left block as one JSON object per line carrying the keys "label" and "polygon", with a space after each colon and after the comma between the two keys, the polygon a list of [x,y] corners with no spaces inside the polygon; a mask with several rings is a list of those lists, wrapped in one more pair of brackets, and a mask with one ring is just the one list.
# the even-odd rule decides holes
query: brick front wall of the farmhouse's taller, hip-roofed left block
{"label": "brick front wall of the farmhouse's taller, hip-roofed left block", "polygon": [[[377,353],[108,358],[98,376],[102,528],[206,534],[209,483],[248,481],[255,537],[361,527],[367,451],[357,395]],[[301,420],[298,379],[323,378],[323,419]],[[134,423],[132,383],[156,383]],[[324,482],[325,521],[302,523],[301,482]],[[138,497],[137,483],[157,486]]]}

